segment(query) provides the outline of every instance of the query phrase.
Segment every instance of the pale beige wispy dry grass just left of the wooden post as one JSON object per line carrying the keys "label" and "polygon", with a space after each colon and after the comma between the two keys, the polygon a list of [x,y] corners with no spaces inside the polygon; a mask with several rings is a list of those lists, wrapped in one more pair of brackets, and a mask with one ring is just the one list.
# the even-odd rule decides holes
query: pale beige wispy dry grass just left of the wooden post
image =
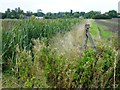
{"label": "pale beige wispy dry grass just left of the wooden post", "polygon": [[51,40],[51,47],[56,49],[58,54],[64,54],[67,57],[75,57],[80,54],[82,46],[84,25],[91,23],[91,20],[83,20],[80,25],[75,27],[63,37],[58,34]]}

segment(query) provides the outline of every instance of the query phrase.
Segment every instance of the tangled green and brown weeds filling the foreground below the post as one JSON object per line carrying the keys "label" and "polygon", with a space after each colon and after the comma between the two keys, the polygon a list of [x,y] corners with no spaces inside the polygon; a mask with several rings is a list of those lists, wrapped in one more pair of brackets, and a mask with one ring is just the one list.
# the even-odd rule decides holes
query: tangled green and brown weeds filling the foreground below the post
{"label": "tangled green and brown weeds filling the foreground below the post", "polygon": [[72,58],[72,61],[69,57],[64,57],[64,54],[58,55],[54,49],[45,46],[39,39],[33,42],[34,61],[31,51],[20,50],[19,46],[16,48],[16,64],[12,67],[12,75],[17,80],[13,81],[18,84],[17,87],[113,87],[116,52],[111,47],[99,44],[98,53],[86,50],[79,58]]}

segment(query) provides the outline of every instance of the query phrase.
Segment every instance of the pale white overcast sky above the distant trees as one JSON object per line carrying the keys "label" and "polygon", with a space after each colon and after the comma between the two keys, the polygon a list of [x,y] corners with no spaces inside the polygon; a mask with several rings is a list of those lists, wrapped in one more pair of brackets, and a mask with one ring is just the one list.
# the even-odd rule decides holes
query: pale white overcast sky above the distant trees
{"label": "pale white overcast sky above the distant trees", "polygon": [[7,8],[14,9],[20,7],[22,10],[36,12],[42,9],[46,12],[65,12],[70,11],[118,11],[118,2],[120,0],[0,0],[0,12]]}

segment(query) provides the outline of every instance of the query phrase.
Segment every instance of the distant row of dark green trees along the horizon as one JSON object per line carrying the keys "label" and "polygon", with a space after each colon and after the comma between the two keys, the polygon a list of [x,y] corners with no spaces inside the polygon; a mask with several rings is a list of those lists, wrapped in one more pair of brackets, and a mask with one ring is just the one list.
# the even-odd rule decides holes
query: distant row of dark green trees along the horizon
{"label": "distant row of dark green trees along the horizon", "polygon": [[89,12],[58,12],[58,13],[43,13],[41,9],[38,9],[37,12],[33,13],[32,11],[24,12],[20,7],[10,10],[9,8],[2,14],[2,19],[25,19],[31,16],[43,17],[45,19],[56,19],[56,18],[92,18],[92,19],[111,19],[111,18],[120,18],[119,14],[115,10],[110,10],[102,14],[100,11],[89,11]]}

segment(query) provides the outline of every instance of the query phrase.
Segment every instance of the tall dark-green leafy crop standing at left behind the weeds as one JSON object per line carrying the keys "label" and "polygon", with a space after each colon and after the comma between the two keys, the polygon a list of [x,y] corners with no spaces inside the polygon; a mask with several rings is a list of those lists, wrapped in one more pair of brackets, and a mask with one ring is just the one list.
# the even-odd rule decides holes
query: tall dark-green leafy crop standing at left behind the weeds
{"label": "tall dark-green leafy crop standing at left behind the weeds", "polygon": [[21,50],[32,51],[32,46],[34,45],[32,39],[37,38],[44,40],[45,44],[49,45],[50,38],[56,33],[64,34],[80,21],[80,19],[36,20],[34,17],[29,20],[3,20],[3,68],[7,66],[8,59],[15,63],[17,45],[20,46]]}

